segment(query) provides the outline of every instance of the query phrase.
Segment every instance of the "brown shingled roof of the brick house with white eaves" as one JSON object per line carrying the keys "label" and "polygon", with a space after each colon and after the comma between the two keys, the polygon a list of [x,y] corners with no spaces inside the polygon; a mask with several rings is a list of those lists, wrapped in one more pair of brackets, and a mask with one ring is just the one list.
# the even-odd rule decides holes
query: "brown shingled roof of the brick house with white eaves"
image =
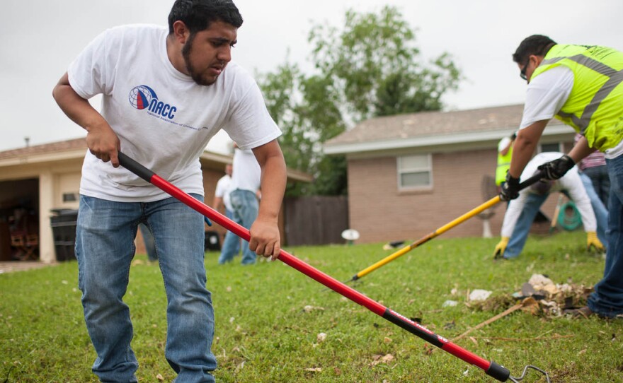
{"label": "brown shingled roof of the brick house with white eaves", "polygon": [[[521,122],[523,105],[485,107],[452,112],[419,112],[375,117],[324,144],[327,154],[365,153],[396,148],[462,146],[493,147]],[[552,140],[573,134],[558,122],[546,129]]]}

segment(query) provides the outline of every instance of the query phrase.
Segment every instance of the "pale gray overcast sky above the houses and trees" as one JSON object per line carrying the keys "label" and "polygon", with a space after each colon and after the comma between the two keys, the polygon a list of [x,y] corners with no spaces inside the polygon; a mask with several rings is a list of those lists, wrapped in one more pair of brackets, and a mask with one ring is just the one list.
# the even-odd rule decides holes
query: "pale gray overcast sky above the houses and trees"
{"label": "pale gray overcast sky above the houses and trees", "polygon": [[[535,33],[560,43],[623,50],[620,0],[234,0],[244,18],[234,60],[250,71],[285,62],[307,66],[312,23],[343,25],[348,8],[397,6],[423,57],[452,54],[465,81],[447,95],[448,110],[521,103],[525,83],[510,55]],[[86,133],[59,110],[52,88],[77,54],[105,28],[166,25],[171,0],[6,0],[0,23],[0,151],[75,139]],[[589,5],[590,4],[590,5]],[[98,107],[99,100],[93,100]],[[226,136],[208,148],[222,151]]]}

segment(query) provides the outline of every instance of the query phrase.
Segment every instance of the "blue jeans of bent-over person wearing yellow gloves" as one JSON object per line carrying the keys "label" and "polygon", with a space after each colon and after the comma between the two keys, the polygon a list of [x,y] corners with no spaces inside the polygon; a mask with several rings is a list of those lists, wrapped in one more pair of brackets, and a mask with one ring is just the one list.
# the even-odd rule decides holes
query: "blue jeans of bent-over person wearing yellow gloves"
{"label": "blue jeans of bent-over person wearing yellow gloves", "polygon": [[[595,212],[595,218],[597,220],[597,237],[602,244],[606,246],[608,212],[600,201],[597,193],[595,193],[595,189],[593,189],[593,184],[590,182],[590,178],[583,174],[580,174],[580,178],[582,179],[582,184],[584,185],[586,194],[588,194],[588,199],[590,199],[590,206],[593,207],[593,211]],[[515,225],[515,229],[513,230],[513,235],[510,236],[508,245],[504,250],[504,258],[509,259],[519,257],[519,254],[525,246],[528,234],[530,233],[532,222],[535,220],[535,217],[537,216],[542,204],[544,204],[547,199],[547,196],[549,196],[549,194],[544,196],[532,193],[528,194],[526,203],[523,206],[523,210],[521,211],[517,224]]]}

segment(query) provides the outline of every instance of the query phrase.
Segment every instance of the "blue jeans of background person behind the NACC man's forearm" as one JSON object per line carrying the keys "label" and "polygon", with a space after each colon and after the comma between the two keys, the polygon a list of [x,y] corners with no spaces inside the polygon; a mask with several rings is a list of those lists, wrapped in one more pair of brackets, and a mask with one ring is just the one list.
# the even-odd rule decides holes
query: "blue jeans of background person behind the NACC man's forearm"
{"label": "blue jeans of background person behind the NACC man's forearm", "polygon": [[[258,211],[260,208],[256,194],[248,190],[236,189],[232,190],[229,194],[229,200],[234,208],[234,221],[240,225],[243,225],[247,230],[250,229],[253,222],[255,222],[258,218]],[[232,246],[234,240],[239,240],[239,238],[232,232],[227,232],[227,235],[225,235],[221,257],[219,257],[220,264],[232,261],[234,255],[238,254],[237,251],[234,252],[234,247]],[[256,253],[252,252],[248,248],[248,242],[242,241],[241,263],[255,264],[256,257]]]}

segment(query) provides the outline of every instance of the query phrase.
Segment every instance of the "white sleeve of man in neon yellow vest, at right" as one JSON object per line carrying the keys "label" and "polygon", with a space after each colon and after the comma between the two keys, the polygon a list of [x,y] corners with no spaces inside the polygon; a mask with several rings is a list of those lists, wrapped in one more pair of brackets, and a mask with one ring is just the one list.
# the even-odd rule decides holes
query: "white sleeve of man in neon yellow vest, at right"
{"label": "white sleeve of man in neon yellow vest, at right", "polygon": [[573,71],[566,66],[556,66],[535,77],[528,84],[519,129],[554,117],[569,98],[572,88]]}

